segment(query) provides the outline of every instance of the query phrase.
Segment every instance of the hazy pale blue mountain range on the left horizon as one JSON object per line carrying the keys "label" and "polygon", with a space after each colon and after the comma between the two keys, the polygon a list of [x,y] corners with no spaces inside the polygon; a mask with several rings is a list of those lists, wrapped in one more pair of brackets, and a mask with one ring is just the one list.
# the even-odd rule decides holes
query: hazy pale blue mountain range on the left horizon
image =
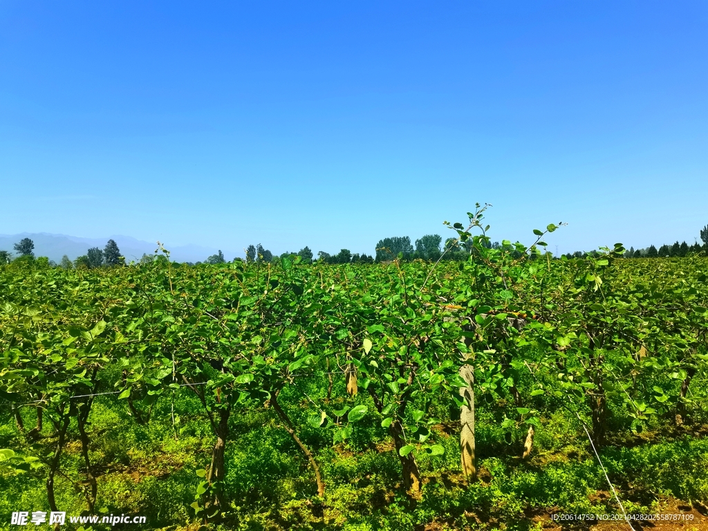
{"label": "hazy pale blue mountain range on the left horizon", "polygon": [[[153,254],[157,248],[156,243],[142,241],[130,236],[107,236],[105,238],[79,238],[77,236],[67,236],[66,234],[50,234],[48,232],[23,232],[22,234],[0,234],[0,251],[10,251],[16,254],[13,246],[23,238],[31,239],[35,244],[35,256],[47,256],[57,263],[62,260],[62,256],[67,255],[72,260],[77,256],[86,254],[91,247],[98,247],[103,250],[109,239],[115,240],[125,261],[139,261],[144,253]],[[218,249],[202,247],[198,245],[169,246],[170,259],[176,262],[203,262],[212,254],[219,252]],[[227,260],[233,260],[234,256],[243,255],[243,251],[234,252],[222,249]]]}

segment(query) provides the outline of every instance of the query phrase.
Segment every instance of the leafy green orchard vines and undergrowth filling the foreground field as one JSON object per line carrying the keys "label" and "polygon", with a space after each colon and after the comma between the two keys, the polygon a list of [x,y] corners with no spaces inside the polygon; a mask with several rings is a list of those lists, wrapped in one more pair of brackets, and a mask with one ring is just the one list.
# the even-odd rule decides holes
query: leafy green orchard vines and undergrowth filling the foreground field
{"label": "leafy green orchard vines and undergrowth filling the foreground field", "polygon": [[554,225],[490,249],[481,212],[450,225],[464,263],[0,265],[0,527],[525,530],[708,501],[708,259],[552,260]]}

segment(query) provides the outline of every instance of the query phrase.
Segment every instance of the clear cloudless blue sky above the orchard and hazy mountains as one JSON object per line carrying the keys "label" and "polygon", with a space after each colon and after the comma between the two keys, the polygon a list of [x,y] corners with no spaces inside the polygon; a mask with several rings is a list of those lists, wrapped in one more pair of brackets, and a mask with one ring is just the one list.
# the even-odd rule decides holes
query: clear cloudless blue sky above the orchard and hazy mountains
{"label": "clear cloudless blue sky above the orchard and hazy mountains", "polygon": [[707,200],[704,0],[0,2],[3,234],[373,253],[489,202],[566,252]]}

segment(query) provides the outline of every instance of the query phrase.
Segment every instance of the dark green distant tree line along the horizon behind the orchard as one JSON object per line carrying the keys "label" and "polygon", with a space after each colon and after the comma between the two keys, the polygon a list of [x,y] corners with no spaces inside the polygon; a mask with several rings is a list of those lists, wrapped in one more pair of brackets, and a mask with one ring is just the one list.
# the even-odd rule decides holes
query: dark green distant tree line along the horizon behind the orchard
{"label": "dark green distant tree line along the horizon behind the orchard", "polygon": [[[649,246],[644,249],[634,249],[630,247],[629,250],[624,253],[624,258],[671,258],[671,257],[684,257],[690,255],[698,255],[703,253],[708,256],[708,225],[700,230],[700,239],[703,245],[696,242],[695,244],[688,245],[685,241],[679,243],[675,241],[674,244],[668,245],[663,244],[658,249],[656,246]],[[513,246],[500,244],[498,241],[489,242],[489,248],[491,249],[505,249],[512,253]],[[29,238],[23,238],[18,243],[14,244],[13,249],[18,256],[14,260],[35,260],[34,256],[34,242]],[[257,246],[251,244],[246,249],[246,263],[270,263],[273,261],[275,256],[272,252],[265,249],[261,244]],[[336,254],[330,254],[326,251],[319,251],[317,253],[317,258],[314,257],[312,250],[305,246],[303,249],[297,251],[297,253],[291,253],[290,251],[285,251],[280,255],[282,257],[292,257],[299,256],[302,263],[330,263],[330,264],[343,264],[343,263],[381,263],[393,261],[395,258],[400,258],[404,261],[411,260],[425,260],[425,261],[438,261],[450,260],[450,261],[462,261],[467,259],[469,256],[469,242],[460,242],[454,238],[448,238],[445,240],[445,244],[442,245],[442,236],[440,234],[426,234],[420,239],[416,239],[415,246],[411,243],[409,236],[390,236],[388,238],[380,239],[376,244],[375,255],[367,255],[365,253],[352,253],[349,249],[341,249]],[[574,253],[567,253],[566,258],[584,258],[588,255],[597,253],[597,251],[576,251]],[[554,257],[559,258],[559,257]],[[64,269],[72,268],[100,268],[100,267],[115,267],[119,265],[125,265],[125,258],[121,256],[120,249],[118,249],[118,244],[115,240],[109,239],[105,244],[103,249],[98,247],[91,247],[86,251],[85,255],[79,256],[74,261],[72,261],[69,256],[64,255],[60,263],[55,263],[49,258],[40,256],[36,258],[39,262],[45,262],[46,265],[52,267],[61,267]],[[165,256],[162,255],[149,255],[144,253],[142,258],[138,263],[147,264],[153,261],[166,260]],[[12,253],[9,251],[0,251],[0,264],[10,263],[13,261]],[[234,261],[244,261],[243,258],[236,257]],[[202,262],[184,262],[186,265],[201,265]],[[227,263],[227,259],[224,253],[219,250],[217,254],[209,256],[205,259],[203,263],[207,264],[218,264]]]}

